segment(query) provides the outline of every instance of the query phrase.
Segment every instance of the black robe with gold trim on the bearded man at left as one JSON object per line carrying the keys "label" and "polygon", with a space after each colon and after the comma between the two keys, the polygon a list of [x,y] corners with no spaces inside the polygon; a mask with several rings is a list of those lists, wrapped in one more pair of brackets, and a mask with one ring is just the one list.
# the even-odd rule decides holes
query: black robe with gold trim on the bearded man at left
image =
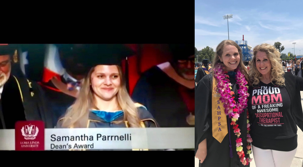
{"label": "black robe with gold trim on the bearded man at left", "polygon": [[[52,127],[42,88],[26,78],[10,75],[3,86],[0,99],[1,129],[15,129],[16,121],[44,121],[45,128]],[[3,123],[3,121],[5,124]]]}

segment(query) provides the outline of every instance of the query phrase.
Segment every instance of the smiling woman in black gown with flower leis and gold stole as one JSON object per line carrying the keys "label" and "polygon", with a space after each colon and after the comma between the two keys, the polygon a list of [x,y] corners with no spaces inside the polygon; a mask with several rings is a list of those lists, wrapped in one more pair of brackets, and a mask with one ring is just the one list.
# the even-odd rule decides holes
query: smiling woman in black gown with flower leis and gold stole
{"label": "smiling woman in black gown with flower leis and gold stole", "polygon": [[213,74],[203,77],[195,90],[195,156],[200,167],[249,166],[249,80],[241,48],[222,41],[213,64]]}

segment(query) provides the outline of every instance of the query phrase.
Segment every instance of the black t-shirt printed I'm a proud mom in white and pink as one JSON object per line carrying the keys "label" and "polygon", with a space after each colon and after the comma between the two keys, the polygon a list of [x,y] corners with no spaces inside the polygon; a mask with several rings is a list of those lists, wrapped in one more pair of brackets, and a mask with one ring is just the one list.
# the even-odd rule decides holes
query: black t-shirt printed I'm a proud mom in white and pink
{"label": "black t-shirt printed I'm a proud mom in white and pink", "polygon": [[294,150],[297,147],[294,132],[297,125],[291,115],[291,101],[286,88],[260,81],[258,87],[249,87],[248,92],[252,145],[277,151]]}

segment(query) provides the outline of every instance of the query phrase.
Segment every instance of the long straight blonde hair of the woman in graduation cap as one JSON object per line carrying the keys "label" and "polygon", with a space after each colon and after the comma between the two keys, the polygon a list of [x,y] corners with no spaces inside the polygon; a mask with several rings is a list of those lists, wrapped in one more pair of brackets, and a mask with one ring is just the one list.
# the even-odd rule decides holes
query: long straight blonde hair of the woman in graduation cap
{"label": "long straight blonde hair of the woman in graduation cap", "polygon": [[[127,121],[130,127],[141,127],[137,107],[135,106],[135,103],[132,101],[126,89],[122,68],[118,65],[117,67],[119,70],[121,85],[116,96],[119,103],[118,105],[120,105],[122,111],[124,112],[123,122]],[[88,75],[82,81],[82,87],[80,89],[78,98],[65,113],[62,128],[86,128],[90,109],[98,109],[94,104],[93,89],[91,87],[91,75],[94,71],[95,67],[91,68]],[[122,121],[117,123],[121,122]]]}

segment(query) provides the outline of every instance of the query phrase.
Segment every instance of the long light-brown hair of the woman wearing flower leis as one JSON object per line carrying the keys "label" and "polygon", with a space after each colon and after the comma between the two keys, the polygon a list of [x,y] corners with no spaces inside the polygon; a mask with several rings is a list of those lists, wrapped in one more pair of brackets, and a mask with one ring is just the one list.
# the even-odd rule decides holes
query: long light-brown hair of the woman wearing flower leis
{"label": "long light-brown hair of the woman wearing flower leis", "polygon": [[[220,57],[222,57],[223,49],[226,45],[232,45],[232,46],[235,46],[238,49],[238,52],[239,52],[239,55],[240,55],[240,62],[238,64],[238,68],[240,69],[242,74],[245,75],[245,79],[248,82],[248,85],[250,85],[250,81],[248,79],[248,71],[247,71],[247,69],[246,69],[246,67],[245,67],[245,65],[242,61],[242,50],[241,50],[240,46],[235,41],[224,40],[221,43],[219,43],[219,45],[216,48],[216,52],[215,52],[215,55],[214,55],[214,58],[213,58],[214,61],[213,61],[213,66],[212,67],[215,68],[218,63],[221,63],[223,65],[223,63],[220,61]],[[215,71],[215,69],[213,69],[213,71]],[[214,79],[215,79],[215,75],[213,74],[212,75],[212,82],[214,82]],[[211,84],[211,88],[212,88],[212,85],[213,84]],[[212,89],[211,89],[211,91],[212,91]]]}

